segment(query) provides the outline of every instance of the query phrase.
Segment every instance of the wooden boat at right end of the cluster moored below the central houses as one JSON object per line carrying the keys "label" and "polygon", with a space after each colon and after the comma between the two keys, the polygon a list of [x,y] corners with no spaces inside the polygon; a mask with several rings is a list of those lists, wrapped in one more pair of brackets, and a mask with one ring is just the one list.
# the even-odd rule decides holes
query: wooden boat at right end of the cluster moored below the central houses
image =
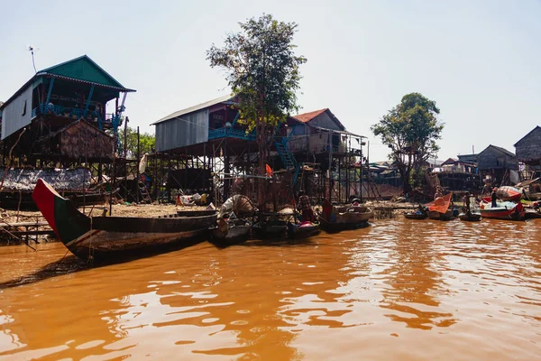
{"label": "wooden boat at right end of the cluster moored below the central houses", "polygon": [[[327,209],[328,210],[327,210]],[[327,232],[340,232],[368,226],[368,220],[374,217],[371,208],[364,206],[331,206],[324,204],[322,214],[318,215],[319,225]]]}

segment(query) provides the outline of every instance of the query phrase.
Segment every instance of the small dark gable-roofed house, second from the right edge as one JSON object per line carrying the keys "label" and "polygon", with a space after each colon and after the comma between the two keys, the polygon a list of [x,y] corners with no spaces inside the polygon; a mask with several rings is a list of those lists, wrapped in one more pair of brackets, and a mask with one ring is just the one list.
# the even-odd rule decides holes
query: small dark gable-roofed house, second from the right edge
{"label": "small dark gable-roofed house, second from the right edge", "polygon": [[477,154],[477,167],[487,186],[518,183],[517,156],[496,145],[489,145]]}

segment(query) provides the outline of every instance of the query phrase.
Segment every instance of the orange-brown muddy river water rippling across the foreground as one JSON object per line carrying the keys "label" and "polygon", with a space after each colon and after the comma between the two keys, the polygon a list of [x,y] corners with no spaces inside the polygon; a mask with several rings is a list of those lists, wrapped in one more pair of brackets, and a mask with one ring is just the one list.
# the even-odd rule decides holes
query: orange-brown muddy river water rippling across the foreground
{"label": "orange-brown muddy river water rippling across the foreground", "polygon": [[541,219],[390,219],[90,269],[0,247],[0,359],[540,359],[540,240]]}

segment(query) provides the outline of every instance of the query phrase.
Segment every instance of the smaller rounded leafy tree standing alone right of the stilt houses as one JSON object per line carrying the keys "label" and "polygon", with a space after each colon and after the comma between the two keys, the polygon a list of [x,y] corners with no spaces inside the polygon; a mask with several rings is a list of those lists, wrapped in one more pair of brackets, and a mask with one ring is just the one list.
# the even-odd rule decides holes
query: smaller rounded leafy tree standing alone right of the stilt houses
{"label": "smaller rounded leafy tree standing alone right of the stilt houses", "polygon": [[411,190],[411,171],[418,169],[426,160],[436,155],[441,139],[443,123],[437,119],[440,110],[434,100],[420,93],[402,97],[380,122],[371,126],[374,135],[390,147],[390,159],[396,162],[404,181],[404,193]]}

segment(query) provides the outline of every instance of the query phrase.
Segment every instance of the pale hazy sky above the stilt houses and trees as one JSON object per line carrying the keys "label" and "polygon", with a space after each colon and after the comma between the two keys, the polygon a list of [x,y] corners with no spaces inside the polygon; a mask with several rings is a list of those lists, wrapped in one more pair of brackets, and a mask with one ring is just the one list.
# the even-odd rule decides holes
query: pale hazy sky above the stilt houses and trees
{"label": "pale hazy sky above the stilt houses and trees", "polygon": [[[206,50],[261,14],[298,23],[301,113],[330,108],[370,143],[401,97],[435,100],[445,124],[437,158],[514,143],[541,125],[541,0],[2,2],[0,100],[45,69],[87,54],[124,87],[130,126],[230,93]],[[541,145],[541,144],[540,144]]]}

